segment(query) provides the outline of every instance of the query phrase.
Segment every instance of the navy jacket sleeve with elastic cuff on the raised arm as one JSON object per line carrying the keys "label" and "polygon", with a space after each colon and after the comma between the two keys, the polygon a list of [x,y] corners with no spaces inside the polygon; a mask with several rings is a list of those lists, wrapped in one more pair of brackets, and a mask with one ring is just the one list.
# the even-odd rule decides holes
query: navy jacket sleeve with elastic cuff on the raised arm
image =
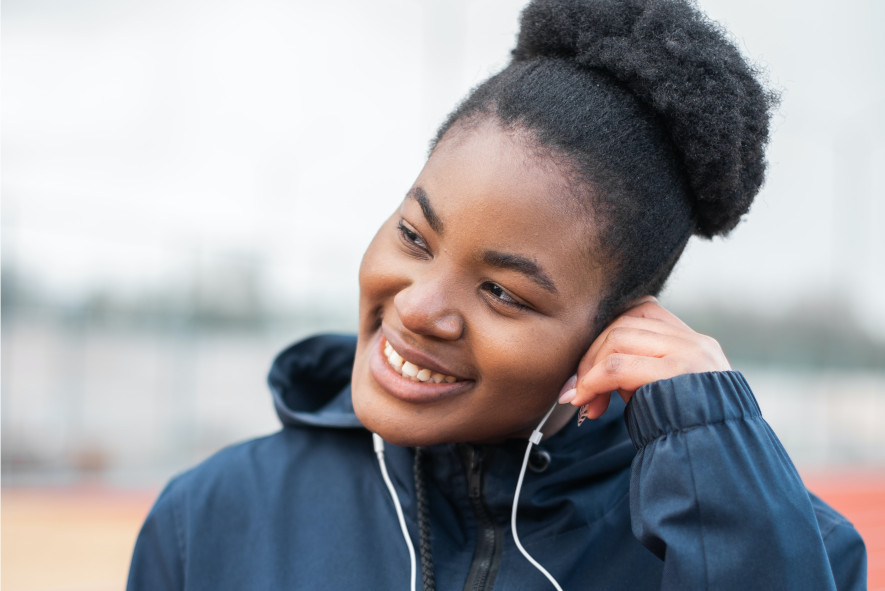
{"label": "navy jacket sleeve with elastic cuff on the raised arm", "polygon": [[661,589],[865,589],[860,536],[830,510],[841,529],[827,547],[831,532],[741,374],[649,384],[626,420],[633,533],[664,561]]}

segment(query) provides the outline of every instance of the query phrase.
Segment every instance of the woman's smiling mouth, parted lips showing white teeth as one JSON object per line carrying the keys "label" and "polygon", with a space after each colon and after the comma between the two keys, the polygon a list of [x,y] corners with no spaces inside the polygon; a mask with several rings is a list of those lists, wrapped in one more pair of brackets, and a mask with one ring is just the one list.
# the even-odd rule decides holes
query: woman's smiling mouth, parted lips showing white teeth
{"label": "woman's smiling mouth, parted lips showing white teeth", "polygon": [[474,384],[473,380],[452,375],[451,370],[425,354],[398,346],[402,354],[379,334],[369,361],[375,381],[392,396],[407,402],[434,402],[460,394]]}

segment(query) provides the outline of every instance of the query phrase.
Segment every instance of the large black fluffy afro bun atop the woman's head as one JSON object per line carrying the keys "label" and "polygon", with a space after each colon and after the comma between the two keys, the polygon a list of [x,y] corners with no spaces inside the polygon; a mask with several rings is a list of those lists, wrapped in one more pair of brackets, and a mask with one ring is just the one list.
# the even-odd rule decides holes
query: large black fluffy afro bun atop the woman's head
{"label": "large black fluffy afro bun atop the woman's head", "polygon": [[543,58],[604,71],[657,113],[691,189],[696,234],[725,234],[750,209],[776,97],[693,4],[534,0],[513,59]]}

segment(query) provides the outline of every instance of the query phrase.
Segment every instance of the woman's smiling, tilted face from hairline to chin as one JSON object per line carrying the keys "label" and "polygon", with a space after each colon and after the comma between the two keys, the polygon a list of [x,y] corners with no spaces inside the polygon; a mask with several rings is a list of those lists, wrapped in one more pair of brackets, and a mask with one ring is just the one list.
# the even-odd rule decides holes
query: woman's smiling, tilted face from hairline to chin
{"label": "woman's smiling, tilted face from hairline to chin", "polygon": [[552,161],[491,121],[450,131],[360,267],[363,424],[399,445],[529,434],[594,337],[587,232]]}

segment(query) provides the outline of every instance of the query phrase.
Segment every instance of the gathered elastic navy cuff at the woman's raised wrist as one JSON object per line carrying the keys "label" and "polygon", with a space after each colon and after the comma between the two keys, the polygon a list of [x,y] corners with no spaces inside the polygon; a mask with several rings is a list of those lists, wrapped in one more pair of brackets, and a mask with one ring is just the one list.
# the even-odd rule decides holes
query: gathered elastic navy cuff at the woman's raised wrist
{"label": "gathered elastic navy cuff at the woman's raised wrist", "polygon": [[627,405],[627,431],[637,449],[676,431],[761,417],[740,372],[692,373],[641,387]]}

